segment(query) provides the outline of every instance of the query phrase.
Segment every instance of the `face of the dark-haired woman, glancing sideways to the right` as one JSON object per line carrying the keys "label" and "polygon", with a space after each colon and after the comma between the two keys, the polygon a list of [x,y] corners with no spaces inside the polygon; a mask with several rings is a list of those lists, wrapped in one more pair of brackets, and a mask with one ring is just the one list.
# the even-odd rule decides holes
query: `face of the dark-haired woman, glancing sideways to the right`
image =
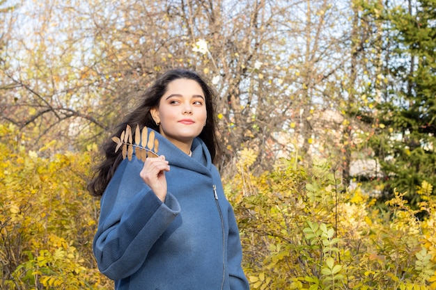
{"label": "face of the dark-haired woman, glancing sideways to the right", "polygon": [[162,136],[180,149],[187,146],[190,149],[207,119],[204,92],[192,79],[176,79],[168,84],[159,107],[152,108],[150,113],[155,122],[160,122]]}

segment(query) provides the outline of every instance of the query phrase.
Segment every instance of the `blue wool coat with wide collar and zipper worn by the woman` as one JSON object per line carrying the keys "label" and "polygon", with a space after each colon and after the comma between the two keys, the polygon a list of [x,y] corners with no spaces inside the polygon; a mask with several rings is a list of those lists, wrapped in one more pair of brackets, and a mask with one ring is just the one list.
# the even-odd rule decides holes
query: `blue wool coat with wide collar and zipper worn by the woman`
{"label": "blue wool coat with wide collar and zipper worn by the woman", "polygon": [[100,271],[119,290],[249,289],[233,209],[207,147],[196,138],[190,157],[155,135],[170,166],[166,200],[139,177],[135,155],[120,163],[100,201]]}

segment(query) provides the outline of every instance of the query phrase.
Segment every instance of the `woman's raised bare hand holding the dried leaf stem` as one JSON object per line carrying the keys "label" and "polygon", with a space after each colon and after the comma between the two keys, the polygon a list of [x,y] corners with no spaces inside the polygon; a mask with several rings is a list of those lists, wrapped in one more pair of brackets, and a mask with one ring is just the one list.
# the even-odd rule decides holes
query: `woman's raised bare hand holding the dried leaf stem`
{"label": "woman's raised bare hand holding the dried leaf stem", "polygon": [[169,171],[169,165],[165,156],[161,155],[156,158],[147,158],[139,173],[139,176],[162,202],[166,198],[167,190],[165,171]]}

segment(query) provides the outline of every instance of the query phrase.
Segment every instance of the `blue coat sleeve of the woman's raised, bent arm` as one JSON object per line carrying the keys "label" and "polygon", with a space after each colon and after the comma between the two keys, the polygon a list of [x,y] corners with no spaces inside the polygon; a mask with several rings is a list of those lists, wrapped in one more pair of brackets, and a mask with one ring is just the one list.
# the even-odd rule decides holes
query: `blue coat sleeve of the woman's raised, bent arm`
{"label": "blue coat sleeve of the woman's raised, bent arm", "polygon": [[100,220],[93,241],[99,270],[111,280],[135,273],[155,241],[180,213],[176,198],[165,202],[139,177],[143,163],[123,160],[100,201]]}

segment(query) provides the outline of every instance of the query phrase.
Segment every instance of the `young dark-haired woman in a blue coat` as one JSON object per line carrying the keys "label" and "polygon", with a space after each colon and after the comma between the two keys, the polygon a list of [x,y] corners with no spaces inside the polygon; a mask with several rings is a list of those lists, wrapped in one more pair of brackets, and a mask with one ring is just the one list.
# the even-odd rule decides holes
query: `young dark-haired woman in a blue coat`
{"label": "young dark-haired woman in a blue coat", "polygon": [[238,226],[212,163],[214,97],[195,72],[166,72],[115,135],[127,124],[148,127],[159,157],[123,159],[114,141],[104,145],[88,186],[101,196],[93,251],[116,289],[249,289]]}

